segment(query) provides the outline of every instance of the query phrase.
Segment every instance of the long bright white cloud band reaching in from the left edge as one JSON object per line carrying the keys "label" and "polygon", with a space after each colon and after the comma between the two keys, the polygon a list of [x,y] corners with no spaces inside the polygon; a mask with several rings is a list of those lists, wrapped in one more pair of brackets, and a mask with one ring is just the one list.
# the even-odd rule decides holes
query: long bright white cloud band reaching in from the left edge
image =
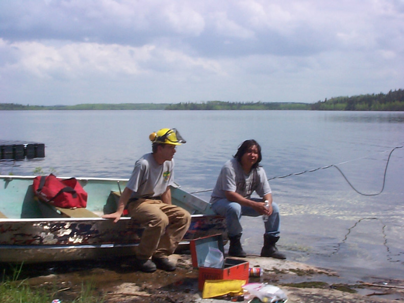
{"label": "long bright white cloud band reaching in from the left edge", "polygon": [[92,74],[114,77],[118,74],[141,75],[154,71],[197,69],[223,73],[215,60],[190,57],[184,53],[155,45],[134,47],[118,44],[69,43],[63,46],[39,42],[6,43],[7,53],[18,58],[8,70],[23,70],[31,76],[51,79],[54,73],[66,78],[83,78]]}

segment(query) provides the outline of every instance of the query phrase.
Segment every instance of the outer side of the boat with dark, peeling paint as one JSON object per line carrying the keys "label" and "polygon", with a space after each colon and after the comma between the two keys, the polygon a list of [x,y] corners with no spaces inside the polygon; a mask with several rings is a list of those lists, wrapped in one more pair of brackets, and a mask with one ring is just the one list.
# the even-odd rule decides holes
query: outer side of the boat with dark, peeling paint
{"label": "outer side of the boat with dark, peeling paint", "polygon": [[[5,221],[6,220],[6,221]],[[130,218],[117,223],[106,219],[0,221],[1,262],[50,262],[131,256],[143,228]],[[189,241],[225,234],[222,217],[193,215],[178,250]]]}

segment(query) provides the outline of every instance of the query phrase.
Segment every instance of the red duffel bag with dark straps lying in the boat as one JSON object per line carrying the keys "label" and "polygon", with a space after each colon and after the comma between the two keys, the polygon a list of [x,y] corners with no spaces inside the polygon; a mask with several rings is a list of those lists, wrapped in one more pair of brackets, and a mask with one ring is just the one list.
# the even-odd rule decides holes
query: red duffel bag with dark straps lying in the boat
{"label": "red duffel bag with dark straps lying in the boat", "polygon": [[54,174],[34,178],[34,194],[42,201],[61,208],[87,206],[87,193],[75,178],[59,179]]}

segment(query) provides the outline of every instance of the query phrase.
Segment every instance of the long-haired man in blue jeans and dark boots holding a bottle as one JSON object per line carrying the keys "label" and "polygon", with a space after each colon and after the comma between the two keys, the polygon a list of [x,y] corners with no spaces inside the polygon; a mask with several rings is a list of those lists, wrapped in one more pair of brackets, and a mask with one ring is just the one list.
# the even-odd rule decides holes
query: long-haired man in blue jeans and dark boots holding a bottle
{"label": "long-haired man in blue jeans and dark boots holding a bottle", "polygon": [[[260,144],[253,139],[244,141],[233,159],[222,167],[210,203],[217,214],[226,218],[230,240],[229,256],[246,257],[240,241],[243,231],[241,216],[264,215],[267,219],[264,220],[261,257],[286,259],[275,245],[280,237],[279,208],[272,201],[266,173],[259,165],[261,160]],[[260,198],[251,198],[254,191]]]}

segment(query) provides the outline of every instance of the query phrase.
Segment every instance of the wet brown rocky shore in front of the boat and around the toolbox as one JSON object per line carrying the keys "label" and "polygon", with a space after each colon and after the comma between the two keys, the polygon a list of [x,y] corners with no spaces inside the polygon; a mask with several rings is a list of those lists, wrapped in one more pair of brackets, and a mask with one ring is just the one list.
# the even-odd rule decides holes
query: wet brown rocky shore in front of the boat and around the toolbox
{"label": "wet brown rocky shore in front of the boat and around the toolbox", "polygon": [[[83,283],[92,283],[105,302],[229,302],[223,299],[202,299],[198,291],[198,271],[192,268],[189,254],[172,255],[177,264],[174,272],[157,270],[143,273],[119,261],[62,262],[24,265],[20,279],[30,285],[53,289],[62,302],[74,300]],[[330,270],[302,263],[248,256],[250,267],[260,266],[261,282],[281,288],[288,302],[404,302],[404,281],[344,283],[344,277]],[[371,285],[373,284],[373,285]],[[381,285],[380,287],[376,285]],[[52,288],[53,287],[53,288]],[[247,299],[244,302],[248,302]]]}

